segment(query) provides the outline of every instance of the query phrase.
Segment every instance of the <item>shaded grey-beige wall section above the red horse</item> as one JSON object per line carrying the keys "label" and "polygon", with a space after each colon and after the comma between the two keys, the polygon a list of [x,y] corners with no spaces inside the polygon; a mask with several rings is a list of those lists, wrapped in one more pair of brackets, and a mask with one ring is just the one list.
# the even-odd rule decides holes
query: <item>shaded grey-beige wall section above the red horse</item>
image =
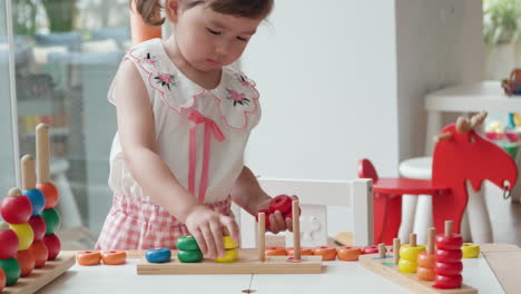
{"label": "shaded grey-beige wall section above the red horse", "polygon": [[396,0],[396,48],[399,150],[406,159],[423,154],[425,94],[482,79],[482,1]]}

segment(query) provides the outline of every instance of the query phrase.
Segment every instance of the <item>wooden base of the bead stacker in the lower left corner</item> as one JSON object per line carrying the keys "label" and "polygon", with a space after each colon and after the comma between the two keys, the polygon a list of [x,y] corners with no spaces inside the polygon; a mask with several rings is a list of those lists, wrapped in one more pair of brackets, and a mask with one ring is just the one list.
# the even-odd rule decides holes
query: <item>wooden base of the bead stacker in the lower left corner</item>
{"label": "wooden base of the bead stacker in the lower left corner", "polygon": [[70,252],[61,252],[55,261],[48,261],[43,267],[35,268],[26,277],[9,287],[4,287],[2,294],[32,294],[55,278],[67,272],[76,263],[76,256]]}

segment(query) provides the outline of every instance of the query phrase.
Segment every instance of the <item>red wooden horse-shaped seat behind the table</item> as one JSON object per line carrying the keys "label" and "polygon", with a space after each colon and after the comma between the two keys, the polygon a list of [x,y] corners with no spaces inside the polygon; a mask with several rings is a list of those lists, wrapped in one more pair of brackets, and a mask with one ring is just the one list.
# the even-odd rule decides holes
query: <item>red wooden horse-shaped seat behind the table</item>
{"label": "red wooden horse-shaped seat behind the table", "polygon": [[[512,158],[495,144],[483,139],[473,129],[486,114],[471,120],[458,119],[439,136],[432,164],[432,180],[411,178],[380,178],[368,159],[358,161],[358,177],[373,179],[374,242],[391,245],[397,236],[402,195],[432,195],[434,226],[443,232],[444,222],[453,220],[453,232],[460,233],[460,224],[469,194],[466,182],[479,190],[488,179],[510,192],[518,179]],[[472,224],[470,224],[472,226]]]}

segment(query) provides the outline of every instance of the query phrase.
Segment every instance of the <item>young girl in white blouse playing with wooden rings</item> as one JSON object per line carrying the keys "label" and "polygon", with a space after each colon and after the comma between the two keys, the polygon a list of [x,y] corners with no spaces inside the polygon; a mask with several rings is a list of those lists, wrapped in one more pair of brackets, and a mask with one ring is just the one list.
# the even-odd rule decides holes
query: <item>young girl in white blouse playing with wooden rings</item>
{"label": "young girl in white blouse playing with wooden rings", "polygon": [[[273,0],[134,0],[147,23],[174,23],[173,36],[131,48],[108,99],[118,134],[110,155],[112,207],[96,247],[174,248],[193,235],[210,258],[224,255],[223,229],[238,241],[235,202],[268,207],[244,149],[260,118],[255,84],[228,65],[245,50]],[[166,19],[161,20],[161,9]],[[291,218],[271,215],[271,231]]]}

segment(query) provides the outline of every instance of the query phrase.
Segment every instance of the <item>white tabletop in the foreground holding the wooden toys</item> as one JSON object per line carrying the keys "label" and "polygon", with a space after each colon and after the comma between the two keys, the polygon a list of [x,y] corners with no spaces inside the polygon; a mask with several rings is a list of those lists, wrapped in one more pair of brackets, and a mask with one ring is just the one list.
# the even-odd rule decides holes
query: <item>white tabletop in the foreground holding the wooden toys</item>
{"label": "white tabletop in the foreground holding the wooden toys", "polygon": [[[312,275],[137,275],[138,259],[120,266],[75,265],[39,294],[82,293],[411,293],[365,270],[356,262],[325,262],[322,274]],[[503,293],[484,258],[463,259],[464,283],[480,293]]]}

